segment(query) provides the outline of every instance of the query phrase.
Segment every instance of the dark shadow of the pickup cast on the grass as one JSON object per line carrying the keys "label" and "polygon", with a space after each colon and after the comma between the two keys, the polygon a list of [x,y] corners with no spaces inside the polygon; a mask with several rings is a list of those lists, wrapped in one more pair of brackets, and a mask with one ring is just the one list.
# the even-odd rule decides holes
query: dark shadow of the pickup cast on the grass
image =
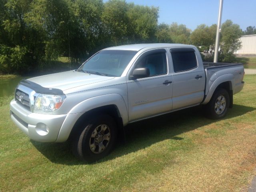
{"label": "dark shadow of the pickup cast on the grass", "polygon": [[[255,109],[234,104],[233,108],[228,110],[228,114],[224,119],[241,116]],[[126,144],[118,142],[115,150],[100,162],[136,152],[166,139],[182,140],[178,136],[179,134],[217,121],[204,117],[202,106],[197,106],[128,124],[125,127]],[[66,165],[86,164],[73,156],[70,141],[64,143],[42,143],[31,140],[31,142],[39,152],[53,163]]]}

